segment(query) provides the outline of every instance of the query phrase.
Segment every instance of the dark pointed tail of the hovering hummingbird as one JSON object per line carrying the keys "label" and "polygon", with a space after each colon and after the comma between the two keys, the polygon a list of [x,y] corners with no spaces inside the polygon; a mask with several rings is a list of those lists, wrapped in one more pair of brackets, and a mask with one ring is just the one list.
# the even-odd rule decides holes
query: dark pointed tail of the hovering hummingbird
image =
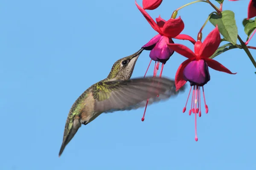
{"label": "dark pointed tail of the hovering hummingbird", "polygon": [[70,122],[69,121],[66,122],[65,130],[64,130],[64,137],[63,137],[63,142],[61,144],[59,157],[61,156],[63,150],[65,149],[67,144],[70,142],[70,140],[75,136],[79,127],[81,127],[81,123],[79,122],[79,119],[75,119],[72,124],[73,124],[72,127],[69,128]]}

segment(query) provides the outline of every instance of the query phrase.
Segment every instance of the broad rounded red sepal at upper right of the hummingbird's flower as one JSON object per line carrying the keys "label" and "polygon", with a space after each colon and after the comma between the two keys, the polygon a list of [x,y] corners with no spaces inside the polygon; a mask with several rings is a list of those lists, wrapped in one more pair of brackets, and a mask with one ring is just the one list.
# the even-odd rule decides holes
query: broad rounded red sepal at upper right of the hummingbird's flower
{"label": "broad rounded red sepal at upper right of the hummingbird's flower", "polygon": [[169,19],[163,26],[163,35],[169,38],[176,37],[184,29],[184,23],[180,17]]}

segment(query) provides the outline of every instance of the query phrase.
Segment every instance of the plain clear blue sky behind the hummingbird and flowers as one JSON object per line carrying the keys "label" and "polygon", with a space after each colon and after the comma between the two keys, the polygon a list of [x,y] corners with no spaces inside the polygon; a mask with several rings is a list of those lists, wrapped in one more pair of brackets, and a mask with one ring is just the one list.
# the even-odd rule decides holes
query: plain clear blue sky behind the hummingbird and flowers
{"label": "plain clear blue sky behind the hummingbird and flowers", "polygon": [[[168,20],[172,11],[189,2],[163,0],[148,12]],[[224,10],[235,11],[243,40],[241,21],[248,3],[224,2]],[[207,3],[181,9],[182,33],[196,38],[210,12]],[[133,54],[157,33],[134,0],[2,0],[0,16],[0,170],[256,168],[256,70],[243,50],[215,58],[236,75],[209,68],[209,113],[198,119],[198,142],[194,116],[182,113],[187,89],[175,99],[149,106],[144,122],[144,108],[102,114],[83,125],[58,158],[73,102],[107,77],[117,59]],[[203,39],[213,28],[207,24]],[[256,37],[249,45],[256,45]],[[256,50],[250,51],[256,56]],[[132,77],[144,75],[148,54],[141,54]],[[163,75],[174,78],[185,59],[175,53]]]}

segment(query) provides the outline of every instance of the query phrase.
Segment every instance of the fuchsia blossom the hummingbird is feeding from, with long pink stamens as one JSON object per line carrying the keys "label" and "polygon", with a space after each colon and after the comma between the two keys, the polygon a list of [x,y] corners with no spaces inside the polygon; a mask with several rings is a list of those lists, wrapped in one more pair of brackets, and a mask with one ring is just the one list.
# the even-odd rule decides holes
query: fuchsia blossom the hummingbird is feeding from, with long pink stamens
{"label": "fuchsia blossom the hummingbird is feeding from, with long pink stamens", "polygon": [[[143,4],[146,4],[146,1],[151,1],[151,0],[143,0]],[[135,4],[137,8],[140,10],[140,12],[143,14],[145,19],[148,21],[148,23],[151,25],[151,27],[158,33],[148,43],[143,45],[142,48],[145,50],[150,50],[149,57],[151,58],[151,60],[149,62],[149,65],[151,64],[152,60],[155,61],[154,74],[153,74],[154,77],[157,75],[157,70],[159,69],[160,62],[162,62],[162,68],[160,71],[160,77],[161,77],[163,72],[163,65],[174,53],[174,51],[167,46],[168,43],[174,43],[172,41],[172,38],[176,38],[180,40],[189,40],[193,44],[195,44],[195,40],[186,34],[180,34],[180,32],[184,29],[184,23],[180,17],[178,17],[177,19],[171,18],[168,21],[166,21],[159,16],[158,18],[156,18],[156,22],[155,22],[150,17],[150,15],[141,6],[137,4],[136,1],[135,1]],[[149,65],[148,65],[148,68],[149,68]],[[146,103],[145,111],[147,108],[147,104],[148,102]],[[145,111],[143,114],[142,121],[144,121]]]}

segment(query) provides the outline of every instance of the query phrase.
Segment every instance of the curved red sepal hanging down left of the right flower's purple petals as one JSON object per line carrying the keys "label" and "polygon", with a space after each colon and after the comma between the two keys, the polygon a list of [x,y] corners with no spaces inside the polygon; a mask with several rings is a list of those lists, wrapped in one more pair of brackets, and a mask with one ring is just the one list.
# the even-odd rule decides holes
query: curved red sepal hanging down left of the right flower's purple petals
{"label": "curved red sepal hanging down left of the right flower's purple petals", "polygon": [[186,65],[189,64],[191,60],[187,59],[181,65],[179,66],[176,75],[175,75],[175,86],[176,86],[176,91],[178,91],[183,85],[186,84],[186,80],[183,77],[183,70],[186,67]]}

